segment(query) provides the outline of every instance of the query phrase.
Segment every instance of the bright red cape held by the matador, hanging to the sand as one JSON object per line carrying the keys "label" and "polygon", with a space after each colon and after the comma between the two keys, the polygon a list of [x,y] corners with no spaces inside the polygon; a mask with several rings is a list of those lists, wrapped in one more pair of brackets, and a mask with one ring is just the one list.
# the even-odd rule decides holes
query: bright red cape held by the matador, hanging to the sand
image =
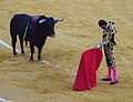
{"label": "bright red cape held by the matador, hanging to the sand", "polygon": [[82,53],[73,90],[83,91],[96,86],[96,70],[102,57],[102,50],[99,49],[90,49]]}

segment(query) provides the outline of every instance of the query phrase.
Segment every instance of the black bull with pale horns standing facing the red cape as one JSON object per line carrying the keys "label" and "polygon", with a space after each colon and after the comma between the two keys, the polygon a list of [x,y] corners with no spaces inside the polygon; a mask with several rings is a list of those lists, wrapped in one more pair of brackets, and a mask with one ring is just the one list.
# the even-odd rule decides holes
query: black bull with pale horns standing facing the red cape
{"label": "black bull with pale horns standing facing the red cape", "polygon": [[48,18],[44,16],[14,14],[10,22],[10,34],[12,39],[13,55],[18,55],[16,51],[17,35],[20,39],[21,53],[25,53],[23,41],[29,41],[31,57],[30,61],[34,61],[34,47],[38,48],[38,60],[42,60],[41,51],[48,37],[54,37],[54,24],[62,19]]}

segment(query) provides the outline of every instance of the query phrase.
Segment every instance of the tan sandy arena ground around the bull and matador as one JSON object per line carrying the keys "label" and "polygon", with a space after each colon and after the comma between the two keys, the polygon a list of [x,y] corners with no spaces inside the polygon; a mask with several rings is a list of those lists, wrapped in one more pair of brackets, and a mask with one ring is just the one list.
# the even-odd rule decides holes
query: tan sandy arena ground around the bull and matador
{"label": "tan sandy arena ground around the bull and matador", "polygon": [[[51,64],[29,62],[27,54],[12,57],[0,44],[0,98],[12,102],[133,102],[133,0],[0,0],[0,39],[11,44],[9,23],[14,13],[63,18],[55,26],[55,38],[48,38],[42,57]],[[119,80],[102,82],[106,75],[103,58],[98,71],[98,86],[72,91],[83,51],[101,42],[100,19],[115,22]],[[20,50],[19,40],[17,49]],[[37,49],[34,57],[37,57]]]}

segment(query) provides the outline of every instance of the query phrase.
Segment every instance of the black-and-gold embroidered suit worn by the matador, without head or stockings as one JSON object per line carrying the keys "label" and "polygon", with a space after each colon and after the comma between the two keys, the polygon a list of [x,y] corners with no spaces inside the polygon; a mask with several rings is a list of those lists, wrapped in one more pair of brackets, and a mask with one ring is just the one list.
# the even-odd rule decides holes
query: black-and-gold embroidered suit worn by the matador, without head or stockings
{"label": "black-and-gold embroidered suit worn by the matador, without head or stockings", "polygon": [[102,44],[104,47],[104,54],[108,67],[116,68],[116,63],[113,57],[113,45],[115,45],[114,34],[116,30],[112,23],[108,23],[106,29],[103,30]]}

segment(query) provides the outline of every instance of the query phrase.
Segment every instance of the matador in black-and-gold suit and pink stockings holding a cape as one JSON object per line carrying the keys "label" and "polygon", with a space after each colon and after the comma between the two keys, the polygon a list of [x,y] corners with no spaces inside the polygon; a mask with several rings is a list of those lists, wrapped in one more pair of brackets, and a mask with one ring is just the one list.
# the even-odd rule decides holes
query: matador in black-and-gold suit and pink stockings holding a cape
{"label": "matador in black-and-gold suit and pink stockings holding a cape", "polygon": [[[104,47],[104,54],[106,59],[108,65],[108,76],[103,78],[103,81],[112,81],[111,84],[115,84],[119,82],[117,80],[117,70],[116,63],[113,57],[113,47],[116,44],[114,40],[114,35],[116,33],[114,22],[106,22],[105,20],[100,20],[99,26],[103,29],[102,43],[98,44],[96,48]],[[113,71],[113,80],[111,72]]]}

